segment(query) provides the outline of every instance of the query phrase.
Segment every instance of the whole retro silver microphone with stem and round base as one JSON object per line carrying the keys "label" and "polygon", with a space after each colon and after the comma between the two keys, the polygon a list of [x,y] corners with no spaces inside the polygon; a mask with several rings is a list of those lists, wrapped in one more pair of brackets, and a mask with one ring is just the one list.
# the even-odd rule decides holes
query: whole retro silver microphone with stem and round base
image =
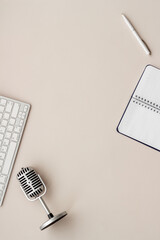
{"label": "whole retro silver microphone with stem and round base", "polygon": [[66,211],[55,216],[50,212],[49,208],[47,207],[45,201],[42,198],[42,196],[46,193],[46,186],[42,181],[41,177],[36,173],[33,168],[22,168],[21,171],[17,174],[17,179],[20,182],[20,187],[24,192],[26,198],[29,201],[35,201],[39,199],[47,213],[49,219],[40,226],[41,230],[58,222],[60,219],[67,215]]}

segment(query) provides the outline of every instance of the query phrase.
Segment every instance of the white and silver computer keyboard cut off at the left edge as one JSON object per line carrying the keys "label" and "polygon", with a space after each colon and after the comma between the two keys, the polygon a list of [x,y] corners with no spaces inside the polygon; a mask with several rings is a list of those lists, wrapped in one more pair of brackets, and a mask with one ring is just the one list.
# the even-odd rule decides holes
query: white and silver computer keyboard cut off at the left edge
{"label": "white and silver computer keyboard cut off at the left edge", "polygon": [[30,105],[0,96],[0,206],[7,189]]}

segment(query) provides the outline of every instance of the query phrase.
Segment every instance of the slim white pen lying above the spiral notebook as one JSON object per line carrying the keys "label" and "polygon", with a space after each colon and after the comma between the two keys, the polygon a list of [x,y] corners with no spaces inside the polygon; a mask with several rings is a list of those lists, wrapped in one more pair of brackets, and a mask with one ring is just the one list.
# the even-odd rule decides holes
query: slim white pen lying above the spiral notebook
{"label": "slim white pen lying above the spiral notebook", "polygon": [[125,21],[125,23],[127,24],[127,26],[129,27],[129,29],[131,30],[131,32],[133,33],[133,35],[135,36],[135,38],[137,39],[137,41],[139,42],[139,44],[141,45],[141,47],[143,48],[143,50],[145,51],[145,53],[147,55],[151,54],[151,51],[149,50],[149,48],[147,47],[146,43],[143,41],[143,39],[139,36],[139,34],[136,32],[135,28],[133,27],[133,25],[130,23],[130,21],[128,20],[128,18],[122,14],[123,20]]}

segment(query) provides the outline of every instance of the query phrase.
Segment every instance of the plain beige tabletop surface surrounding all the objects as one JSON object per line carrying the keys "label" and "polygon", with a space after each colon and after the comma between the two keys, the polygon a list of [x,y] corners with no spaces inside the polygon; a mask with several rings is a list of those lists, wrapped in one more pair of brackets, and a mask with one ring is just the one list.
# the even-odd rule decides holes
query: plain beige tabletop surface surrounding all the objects
{"label": "plain beige tabletop surface surrounding all the objects", "polygon": [[[160,239],[160,153],[116,132],[145,65],[160,67],[159,9],[158,0],[0,2],[0,93],[32,105],[0,239]],[[69,213],[43,232],[44,210],[16,180],[22,166],[39,171],[53,212]]]}

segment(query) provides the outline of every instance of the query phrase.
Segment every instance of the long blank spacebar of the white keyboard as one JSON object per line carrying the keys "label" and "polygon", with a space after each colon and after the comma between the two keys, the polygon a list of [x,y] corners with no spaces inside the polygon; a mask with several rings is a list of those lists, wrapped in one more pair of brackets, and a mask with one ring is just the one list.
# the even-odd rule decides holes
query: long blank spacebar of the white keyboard
{"label": "long blank spacebar of the white keyboard", "polygon": [[13,155],[14,155],[14,151],[16,149],[16,143],[15,142],[11,142],[10,143],[10,146],[9,146],[9,149],[8,149],[8,153],[7,153],[7,156],[6,156],[6,159],[4,161],[4,166],[3,166],[3,170],[2,170],[2,174],[8,174],[9,172],[9,169],[10,169],[10,166],[11,166],[11,162],[12,162],[12,159],[13,159]]}

